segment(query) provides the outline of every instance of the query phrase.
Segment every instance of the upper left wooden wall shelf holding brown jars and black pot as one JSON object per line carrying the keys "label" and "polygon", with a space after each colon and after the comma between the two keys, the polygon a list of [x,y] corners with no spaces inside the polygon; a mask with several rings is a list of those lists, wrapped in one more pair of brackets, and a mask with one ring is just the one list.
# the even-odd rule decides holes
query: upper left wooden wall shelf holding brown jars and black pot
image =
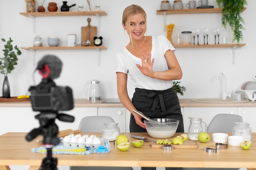
{"label": "upper left wooden wall shelf holding brown jars and black pot", "polygon": [[96,15],[107,15],[105,11],[68,11],[68,12],[21,12],[20,15],[25,17],[49,17],[49,16],[96,16]]}

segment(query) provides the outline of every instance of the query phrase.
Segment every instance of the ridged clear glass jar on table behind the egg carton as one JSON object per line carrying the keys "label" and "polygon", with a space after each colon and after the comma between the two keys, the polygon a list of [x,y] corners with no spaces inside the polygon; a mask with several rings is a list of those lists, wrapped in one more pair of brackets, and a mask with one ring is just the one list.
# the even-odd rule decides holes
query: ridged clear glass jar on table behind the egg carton
{"label": "ridged clear glass jar on table behind the egg carton", "polygon": [[113,141],[120,135],[120,129],[117,126],[118,123],[106,123],[102,129],[102,137],[108,141]]}

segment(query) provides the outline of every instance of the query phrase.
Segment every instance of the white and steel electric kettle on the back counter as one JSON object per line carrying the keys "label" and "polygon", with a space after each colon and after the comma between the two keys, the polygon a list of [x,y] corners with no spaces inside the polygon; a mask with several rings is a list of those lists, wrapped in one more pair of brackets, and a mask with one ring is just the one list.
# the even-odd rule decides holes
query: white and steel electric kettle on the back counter
{"label": "white and steel electric kettle on the back counter", "polygon": [[91,80],[85,84],[84,93],[88,100],[101,100],[101,85],[99,80]]}

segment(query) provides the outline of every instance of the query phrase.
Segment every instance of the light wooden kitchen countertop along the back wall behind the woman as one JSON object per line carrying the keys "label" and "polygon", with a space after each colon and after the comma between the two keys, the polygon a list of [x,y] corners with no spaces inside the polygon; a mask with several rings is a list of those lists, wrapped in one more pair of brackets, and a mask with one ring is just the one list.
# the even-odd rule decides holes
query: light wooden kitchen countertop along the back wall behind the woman
{"label": "light wooden kitchen countertop along the back wall behind the woman", "polygon": [[[87,99],[74,99],[74,107],[124,107],[121,103],[101,103],[106,99],[91,101]],[[181,107],[256,107],[256,101],[243,103],[202,103],[191,99],[180,99]],[[29,101],[0,102],[0,107],[31,107]]]}

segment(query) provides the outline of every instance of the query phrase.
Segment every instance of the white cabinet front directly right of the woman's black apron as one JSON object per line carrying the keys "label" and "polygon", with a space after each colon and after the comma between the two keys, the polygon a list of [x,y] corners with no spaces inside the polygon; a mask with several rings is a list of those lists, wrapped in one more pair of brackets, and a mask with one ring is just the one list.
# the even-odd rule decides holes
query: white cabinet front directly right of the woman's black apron
{"label": "white cabinet front directly right of the woman's black apron", "polygon": [[237,107],[184,107],[184,131],[188,132],[189,129],[189,117],[200,117],[207,125],[211,122],[211,119],[220,113],[226,114],[238,114]]}

